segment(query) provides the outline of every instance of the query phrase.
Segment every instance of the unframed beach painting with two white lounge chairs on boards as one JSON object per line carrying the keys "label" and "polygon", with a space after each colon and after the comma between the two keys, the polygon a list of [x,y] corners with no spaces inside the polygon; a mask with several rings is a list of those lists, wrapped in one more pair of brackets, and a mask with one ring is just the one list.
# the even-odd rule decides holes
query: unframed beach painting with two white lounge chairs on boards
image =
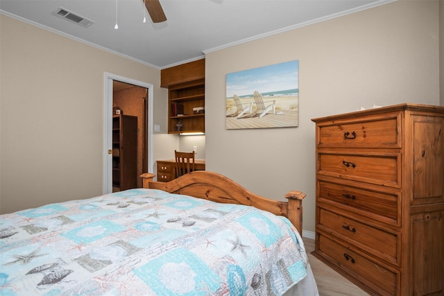
{"label": "unframed beach painting with two white lounge chairs on boards", "polygon": [[299,61],[228,73],[226,128],[298,126]]}

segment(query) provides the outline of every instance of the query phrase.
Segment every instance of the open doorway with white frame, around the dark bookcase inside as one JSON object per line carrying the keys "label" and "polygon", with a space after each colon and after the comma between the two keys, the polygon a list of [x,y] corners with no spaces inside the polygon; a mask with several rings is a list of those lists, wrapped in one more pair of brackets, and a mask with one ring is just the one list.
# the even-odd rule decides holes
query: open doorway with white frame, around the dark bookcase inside
{"label": "open doorway with white frame, around the dark bookcase inside", "polygon": [[[136,156],[136,181],[131,187],[142,187],[140,174],[151,171],[153,166],[153,85],[140,82],[130,78],[105,73],[105,106],[104,106],[104,165],[103,165],[103,193],[111,193],[127,189],[121,188],[113,182],[115,175],[116,150],[114,148],[113,134],[116,131],[116,107],[121,110],[120,114],[126,117],[136,117],[137,124],[135,134],[137,141],[134,150]],[[115,137],[115,136],[114,136]],[[123,148],[124,149],[124,148]],[[123,151],[123,150],[121,150]],[[137,151],[137,152],[136,152]],[[114,155],[113,155],[114,154]],[[123,162],[125,159],[123,159]],[[125,172],[123,172],[125,174]],[[131,173],[133,175],[133,173]],[[115,178],[114,178],[115,180]],[[114,183],[114,184],[113,184]],[[116,186],[117,185],[117,186]]]}

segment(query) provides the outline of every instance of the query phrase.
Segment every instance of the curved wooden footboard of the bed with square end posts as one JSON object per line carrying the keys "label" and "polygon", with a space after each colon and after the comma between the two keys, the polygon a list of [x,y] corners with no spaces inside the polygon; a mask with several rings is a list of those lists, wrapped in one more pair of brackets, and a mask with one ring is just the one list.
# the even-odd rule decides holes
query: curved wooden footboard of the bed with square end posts
{"label": "curved wooden footboard of the bed with square end posts", "polygon": [[214,202],[245,204],[287,217],[302,236],[302,199],[306,195],[301,191],[289,191],[285,195],[288,202],[281,202],[250,192],[228,177],[211,171],[194,171],[170,182],[154,182],[155,175],[152,173],[144,173],[140,177],[143,178],[144,188],[191,195]]}

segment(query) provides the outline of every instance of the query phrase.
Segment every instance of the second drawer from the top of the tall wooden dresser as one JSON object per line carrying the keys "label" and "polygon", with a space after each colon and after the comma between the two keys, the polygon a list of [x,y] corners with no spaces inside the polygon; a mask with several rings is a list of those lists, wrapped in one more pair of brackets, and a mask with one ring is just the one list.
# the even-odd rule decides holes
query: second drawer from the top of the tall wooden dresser
{"label": "second drawer from the top of the tall wooden dresser", "polygon": [[318,174],[400,188],[400,153],[318,153]]}

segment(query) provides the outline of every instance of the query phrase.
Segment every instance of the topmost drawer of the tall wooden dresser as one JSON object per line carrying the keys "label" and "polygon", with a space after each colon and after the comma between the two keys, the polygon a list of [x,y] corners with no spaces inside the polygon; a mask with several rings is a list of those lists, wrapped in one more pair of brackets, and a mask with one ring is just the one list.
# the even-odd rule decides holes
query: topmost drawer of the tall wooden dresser
{"label": "topmost drawer of the tall wooden dresser", "polygon": [[318,125],[319,147],[400,148],[400,113]]}

